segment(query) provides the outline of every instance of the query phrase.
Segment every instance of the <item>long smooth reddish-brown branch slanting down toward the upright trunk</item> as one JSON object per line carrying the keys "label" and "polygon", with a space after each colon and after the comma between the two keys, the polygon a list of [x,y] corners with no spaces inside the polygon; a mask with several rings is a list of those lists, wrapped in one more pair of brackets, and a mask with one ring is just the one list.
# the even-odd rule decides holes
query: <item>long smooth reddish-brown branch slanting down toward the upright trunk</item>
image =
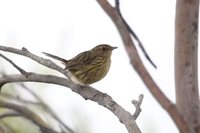
{"label": "long smooth reddish-brown branch slanting down toward the upright trunk", "polygon": [[161,91],[159,86],[152,79],[151,75],[144,67],[139,54],[135,48],[134,42],[132,41],[129,31],[124,24],[124,21],[120,17],[118,11],[113,8],[107,0],[97,0],[99,5],[104,9],[104,11],[108,14],[108,16],[112,19],[113,23],[116,25],[119,34],[121,35],[122,41],[124,42],[124,46],[128,53],[128,56],[131,60],[131,64],[134,69],[137,71],[144,84],[147,86],[152,95],[156,98],[156,100],[160,103],[160,105],[169,113],[178,129],[182,133],[188,133],[189,127],[187,122],[184,120],[183,116],[178,111],[176,105],[172,103],[167,96]]}

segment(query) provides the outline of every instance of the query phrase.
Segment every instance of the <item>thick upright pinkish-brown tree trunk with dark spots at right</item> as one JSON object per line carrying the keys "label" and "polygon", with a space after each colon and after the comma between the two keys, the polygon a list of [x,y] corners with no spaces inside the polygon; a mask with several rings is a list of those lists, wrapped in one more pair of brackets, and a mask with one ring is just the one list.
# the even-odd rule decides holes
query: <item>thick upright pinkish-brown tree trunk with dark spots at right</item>
{"label": "thick upright pinkish-brown tree trunk with dark spots at right", "polygon": [[177,0],[175,19],[176,104],[190,127],[200,132],[198,91],[199,0]]}

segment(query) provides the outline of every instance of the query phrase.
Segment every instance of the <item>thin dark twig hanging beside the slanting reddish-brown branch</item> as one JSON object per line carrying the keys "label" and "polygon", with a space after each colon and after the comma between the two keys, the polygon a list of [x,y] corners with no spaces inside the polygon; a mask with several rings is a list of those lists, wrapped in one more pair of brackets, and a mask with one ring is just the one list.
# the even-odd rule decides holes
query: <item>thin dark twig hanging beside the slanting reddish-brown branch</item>
{"label": "thin dark twig hanging beside the slanting reddish-brown branch", "polygon": [[140,47],[140,49],[142,50],[144,56],[147,58],[147,60],[151,63],[151,65],[154,68],[157,68],[157,66],[155,65],[155,63],[153,63],[153,61],[151,60],[151,58],[149,57],[148,53],[146,52],[142,42],[140,41],[140,39],[138,38],[138,36],[135,34],[135,32],[132,30],[132,28],[129,26],[129,24],[126,22],[126,20],[124,19],[124,17],[121,14],[121,10],[120,10],[120,3],[119,0],[115,0],[115,8],[119,13],[119,16],[121,17],[122,21],[124,22],[125,26],[127,27],[128,31],[130,32],[130,34],[133,36],[133,38],[138,42],[138,46]]}

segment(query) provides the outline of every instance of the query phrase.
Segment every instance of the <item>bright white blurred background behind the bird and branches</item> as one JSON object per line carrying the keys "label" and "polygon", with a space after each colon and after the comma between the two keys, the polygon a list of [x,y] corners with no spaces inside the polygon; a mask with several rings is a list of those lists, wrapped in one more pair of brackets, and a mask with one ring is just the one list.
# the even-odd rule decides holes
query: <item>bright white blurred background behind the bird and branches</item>
{"label": "bright white blurred background behind the bird and branches", "polygon": [[[110,3],[113,5],[114,1],[110,0]],[[154,69],[138,49],[145,66],[162,91],[175,102],[175,1],[121,0],[120,6],[124,18],[158,68]],[[177,133],[169,115],[152,97],[130,65],[116,27],[95,0],[0,0],[0,45],[26,47],[43,57],[42,51],[70,59],[102,43],[117,46],[118,49],[113,52],[108,75],[91,86],[112,96],[131,113],[135,111],[131,100],[144,94],[142,112],[136,121],[141,131]],[[62,76],[28,58],[4,54],[26,71]],[[59,62],[56,63],[62,66]],[[7,74],[18,73],[2,58],[0,71]],[[77,133],[127,133],[124,125],[109,110],[84,100],[68,88],[41,83],[26,85]],[[15,84],[5,86],[2,91],[32,99]],[[53,120],[48,117],[45,119],[58,129]]]}

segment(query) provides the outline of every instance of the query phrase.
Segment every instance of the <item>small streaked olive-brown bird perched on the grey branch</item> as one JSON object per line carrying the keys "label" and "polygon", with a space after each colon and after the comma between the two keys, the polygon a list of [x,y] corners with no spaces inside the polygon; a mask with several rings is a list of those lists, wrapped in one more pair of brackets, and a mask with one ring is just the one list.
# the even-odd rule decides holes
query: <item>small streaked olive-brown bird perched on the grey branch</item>
{"label": "small streaked olive-brown bird perched on the grey branch", "polygon": [[84,85],[95,83],[106,76],[111,64],[112,47],[101,44],[91,50],[82,52],[70,60],[45,53],[45,55],[61,61],[68,70],[71,80]]}

